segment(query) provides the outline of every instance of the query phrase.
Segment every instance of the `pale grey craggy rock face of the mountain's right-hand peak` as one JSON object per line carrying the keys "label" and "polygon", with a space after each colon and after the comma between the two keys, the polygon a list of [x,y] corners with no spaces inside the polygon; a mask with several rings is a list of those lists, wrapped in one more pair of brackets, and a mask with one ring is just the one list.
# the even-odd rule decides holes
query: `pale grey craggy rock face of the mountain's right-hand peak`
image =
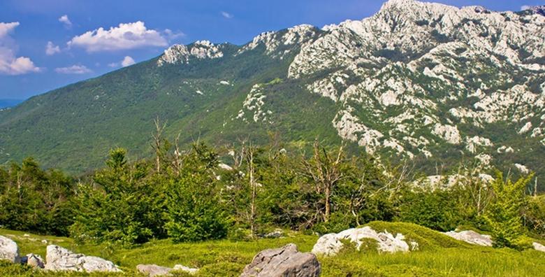
{"label": "pale grey craggy rock face of the mountain's right-hand peak", "polygon": [[[432,158],[433,145],[447,143],[490,164],[492,152],[482,151],[497,142],[466,132],[509,120],[545,145],[544,28],[534,13],[391,0],[372,17],[324,27],[289,76],[336,69],[307,89],[343,106],[333,125],[368,152]],[[443,109],[452,118],[438,116]]]}

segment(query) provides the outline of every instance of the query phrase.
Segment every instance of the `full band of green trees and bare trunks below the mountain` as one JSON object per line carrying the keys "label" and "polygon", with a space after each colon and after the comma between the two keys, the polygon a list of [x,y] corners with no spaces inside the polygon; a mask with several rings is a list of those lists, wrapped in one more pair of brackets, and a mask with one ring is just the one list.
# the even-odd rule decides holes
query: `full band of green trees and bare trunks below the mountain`
{"label": "full band of green trees and bare trunks below the mountain", "polygon": [[446,186],[445,178],[439,188],[416,182],[407,165],[384,166],[343,146],[317,141],[288,152],[281,143],[197,142],[182,150],[163,139],[163,128],[157,122],[154,159],[129,162],[126,150],[113,149],[88,178],[44,171],[30,158],[0,169],[0,225],[123,246],[252,239],[276,227],[325,234],[373,220],[474,227],[512,248],[545,236],[543,198],[525,193],[531,176],[487,182],[480,169],[460,166],[458,181]]}

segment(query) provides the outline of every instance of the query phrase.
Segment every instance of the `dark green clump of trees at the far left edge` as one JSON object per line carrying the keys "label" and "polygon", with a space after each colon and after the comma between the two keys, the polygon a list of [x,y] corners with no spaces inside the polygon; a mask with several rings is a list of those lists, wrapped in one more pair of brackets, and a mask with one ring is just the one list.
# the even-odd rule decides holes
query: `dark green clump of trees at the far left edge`
{"label": "dark green clump of trees at the far left edge", "polygon": [[0,167],[0,226],[66,236],[75,192],[72,178],[58,170],[44,171],[34,159]]}

